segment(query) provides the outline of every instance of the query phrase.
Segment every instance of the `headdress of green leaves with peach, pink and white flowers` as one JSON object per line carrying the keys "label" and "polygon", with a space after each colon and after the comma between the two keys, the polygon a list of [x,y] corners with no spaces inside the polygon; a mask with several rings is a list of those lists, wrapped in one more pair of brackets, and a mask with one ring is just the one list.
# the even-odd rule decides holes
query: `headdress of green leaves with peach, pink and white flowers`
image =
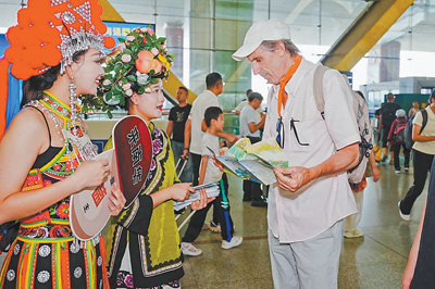
{"label": "headdress of green leaves with peach, pink and white flowers", "polygon": [[135,28],[119,40],[119,53],[104,67],[98,97],[84,98],[84,111],[102,110],[112,117],[111,111],[124,108],[133,91],[150,92],[152,84],[170,74],[174,55],[167,54],[166,38],[158,38],[152,28]]}

